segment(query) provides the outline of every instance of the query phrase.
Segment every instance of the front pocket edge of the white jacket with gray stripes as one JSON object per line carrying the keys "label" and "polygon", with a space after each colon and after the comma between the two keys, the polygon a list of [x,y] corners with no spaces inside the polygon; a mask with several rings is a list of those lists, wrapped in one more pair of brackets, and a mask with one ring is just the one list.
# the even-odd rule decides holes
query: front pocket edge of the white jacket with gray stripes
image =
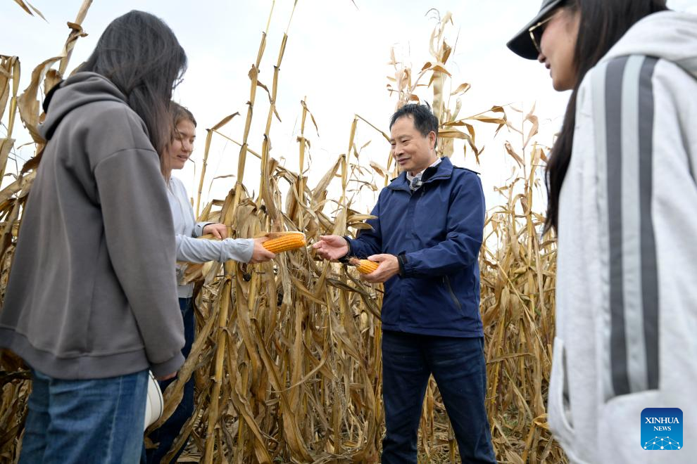
{"label": "front pocket edge of the white jacket with gray stripes", "polygon": [[565,449],[573,449],[574,429],[567,381],[564,342],[559,337],[554,337],[552,373],[549,380],[549,425],[560,444]]}

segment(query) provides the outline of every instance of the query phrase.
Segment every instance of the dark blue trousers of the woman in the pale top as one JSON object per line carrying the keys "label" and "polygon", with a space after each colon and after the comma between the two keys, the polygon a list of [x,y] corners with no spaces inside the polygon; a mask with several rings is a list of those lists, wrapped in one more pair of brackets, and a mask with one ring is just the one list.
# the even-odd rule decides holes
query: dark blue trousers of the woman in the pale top
{"label": "dark blue trousers of the woman in the pale top", "polygon": [[[182,354],[184,358],[189,357],[191,353],[191,345],[194,344],[194,338],[196,337],[196,320],[194,318],[194,306],[193,300],[191,298],[180,298],[179,308],[182,310],[182,318],[184,318],[184,348],[182,348]],[[165,388],[174,382],[175,379],[165,380],[160,382],[160,388],[165,391]],[[182,401],[177,406],[175,411],[170,415],[170,418],[165,421],[161,427],[149,435],[153,444],[158,444],[157,448],[144,450],[141,456],[142,464],[159,463],[162,458],[170,451],[172,444],[175,442],[177,435],[179,435],[180,430],[187,423],[187,420],[194,413],[194,376],[191,375],[189,382],[184,385],[184,397]],[[187,443],[184,442],[182,447],[177,451],[175,456],[170,462],[176,463],[177,458],[184,451],[184,447]]]}

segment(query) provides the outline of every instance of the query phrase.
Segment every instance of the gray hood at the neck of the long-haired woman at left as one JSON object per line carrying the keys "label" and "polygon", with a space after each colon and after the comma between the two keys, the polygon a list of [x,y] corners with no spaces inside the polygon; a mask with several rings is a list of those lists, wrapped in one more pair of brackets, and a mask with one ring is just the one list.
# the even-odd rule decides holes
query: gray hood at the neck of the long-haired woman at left
{"label": "gray hood at the neck of the long-haired woman at left", "polygon": [[46,96],[46,120],[39,127],[39,133],[46,140],[51,139],[65,115],[76,108],[97,101],[116,101],[127,105],[126,97],[113,82],[96,72],[77,72],[56,87]]}

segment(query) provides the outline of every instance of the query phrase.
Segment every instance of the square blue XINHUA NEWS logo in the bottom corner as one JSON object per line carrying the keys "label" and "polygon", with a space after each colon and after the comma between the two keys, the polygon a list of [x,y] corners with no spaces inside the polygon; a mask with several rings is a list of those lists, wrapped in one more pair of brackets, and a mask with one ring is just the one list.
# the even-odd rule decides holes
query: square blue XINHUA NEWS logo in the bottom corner
{"label": "square blue XINHUA NEWS logo in the bottom corner", "polygon": [[641,447],[646,451],[682,449],[682,410],[646,408],[641,411]]}

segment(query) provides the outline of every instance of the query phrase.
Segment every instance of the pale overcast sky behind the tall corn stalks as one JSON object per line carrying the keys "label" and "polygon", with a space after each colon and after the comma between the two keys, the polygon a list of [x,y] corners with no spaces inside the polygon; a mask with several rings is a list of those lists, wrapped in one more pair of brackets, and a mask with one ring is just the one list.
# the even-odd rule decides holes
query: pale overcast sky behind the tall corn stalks
{"label": "pale overcast sky behind the tall corn stalks", "polygon": [[[460,115],[472,115],[491,105],[513,103],[528,110],[536,103],[536,114],[541,119],[540,143],[551,143],[558,130],[568,94],[553,91],[551,79],[542,65],[523,60],[506,49],[506,41],[533,17],[539,9],[539,0],[299,0],[291,19],[291,0],[278,0],[273,11],[267,48],[260,67],[259,79],[272,84],[273,65],[277,60],[283,32],[289,26],[289,40],[280,71],[277,108],[282,123],[274,122],[271,131],[271,156],[284,158],[287,167],[298,169],[300,101],[307,97],[319,127],[319,137],[308,122],[306,136],[312,143],[310,155],[310,186],[315,185],[325,170],[333,165],[340,153],[345,153],[353,115],[358,113],[388,131],[389,116],[396,100],[387,92],[387,76],[394,69],[387,63],[394,47],[398,60],[411,63],[420,70],[430,60],[429,37],[437,24],[437,13],[453,13],[454,26],[450,27],[448,44],[456,49],[448,60],[454,86],[462,82],[472,84],[463,96]],[[23,82],[28,84],[31,70],[49,56],[56,55],[68,34],[66,21],[75,20],[82,0],[32,0],[46,20],[32,17],[13,1],[5,0],[0,6],[4,27],[0,29],[0,54],[16,55],[22,63]],[[187,106],[199,122],[198,142],[193,162],[177,175],[195,195],[199,167],[206,138],[205,129],[225,115],[239,111],[223,130],[235,140],[241,140],[249,99],[247,72],[256,60],[261,33],[266,27],[272,2],[246,1],[174,1],[174,0],[95,0],[83,23],[89,33],[77,42],[69,69],[81,63],[94,48],[96,39],[113,18],[137,8],[163,18],[177,34],[189,57],[189,70],[184,82],[175,91],[175,100]],[[695,8],[695,0],[668,2],[676,9]],[[435,8],[430,11],[429,8]],[[420,93],[430,101],[429,89]],[[265,94],[257,92],[255,123],[250,135],[250,147],[260,150],[263,127],[268,113]],[[510,113],[514,115],[514,113]],[[6,119],[6,118],[5,118]],[[4,123],[6,121],[3,121]],[[19,122],[18,122],[19,124]],[[0,129],[0,134],[4,133]],[[520,136],[501,131],[491,140],[491,131],[482,127],[477,133],[477,144],[486,143],[482,165],[474,158],[463,159],[460,146],[453,162],[482,172],[482,180],[489,206],[496,201],[493,187],[501,185],[510,175],[512,165],[506,159],[503,143],[510,140],[520,144]],[[15,146],[29,140],[15,127]],[[365,124],[359,125],[356,145],[372,141],[363,150],[361,162],[375,160],[387,165],[389,144]],[[211,184],[213,176],[237,172],[239,148],[214,137],[204,185]],[[32,151],[18,150],[23,158]],[[248,157],[249,160],[249,157]],[[194,171],[196,178],[194,179]],[[256,171],[256,172],[255,172]],[[245,183],[251,190],[258,188],[258,164],[251,160]],[[213,182],[211,196],[222,198],[232,187],[234,179]],[[378,183],[382,186],[382,183]],[[372,197],[367,201],[370,203]]]}

